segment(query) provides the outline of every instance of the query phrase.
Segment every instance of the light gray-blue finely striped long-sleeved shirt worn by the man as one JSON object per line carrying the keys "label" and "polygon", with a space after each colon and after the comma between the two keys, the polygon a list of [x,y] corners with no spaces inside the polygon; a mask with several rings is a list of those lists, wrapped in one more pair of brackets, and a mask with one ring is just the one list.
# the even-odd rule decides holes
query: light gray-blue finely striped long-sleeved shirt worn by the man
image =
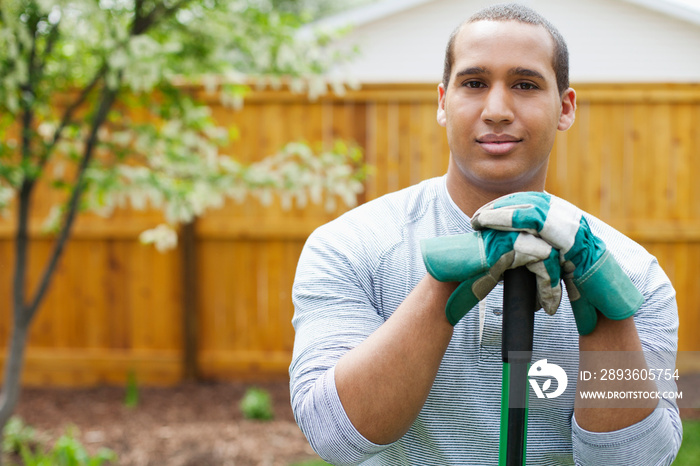
{"label": "light gray-blue finely striped long-sleeved shirt worn by the man", "polygon": [[[675,291],[656,259],[602,221],[587,216],[645,302],[635,323],[646,352],[677,346]],[[455,326],[430,395],[411,429],[390,445],[365,439],[338,398],[338,359],[374,332],[425,275],[419,240],[473,231],[450,198],[445,177],[368,202],[317,229],[299,259],[293,288],[296,330],[290,366],[292,408],[312,447],[333,464],[497,464],[501,396],[501,313],[498,285]],[[485,308],[485,313],[483,312]],[[481,335],[481,337],[480,337]],[[578,333],[566,295],[554,316],[537,312],[533,361],[564,368],[561,396],[530,395],[527,463],[670,464],[680,446],[677,406],[668,401],[640,423],[588,432],[573,416]],[[675,382],[663,382],[676,390]]]}

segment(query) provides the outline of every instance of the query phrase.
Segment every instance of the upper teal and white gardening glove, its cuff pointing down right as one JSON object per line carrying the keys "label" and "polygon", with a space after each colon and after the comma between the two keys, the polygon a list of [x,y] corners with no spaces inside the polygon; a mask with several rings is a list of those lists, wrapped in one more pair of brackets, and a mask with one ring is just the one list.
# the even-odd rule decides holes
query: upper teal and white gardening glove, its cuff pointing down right
{"label": "upper teal and white gardening glove, its cuff pointing down right", "polygon": [[538,235],[559,250],[562,276],[581,335],[596,326],[596,309],[610,319],[626,319],[644,297],[588,227],[583,212],[541,192],[515,193],[481,207],[476,229],[493,228]]}

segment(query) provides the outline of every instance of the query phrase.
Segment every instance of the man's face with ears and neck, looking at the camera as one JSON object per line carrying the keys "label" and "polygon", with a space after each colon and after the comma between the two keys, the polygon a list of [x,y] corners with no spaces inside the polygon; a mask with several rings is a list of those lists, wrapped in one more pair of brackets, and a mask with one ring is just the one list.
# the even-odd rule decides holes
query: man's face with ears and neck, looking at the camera
{"label": "man's face with ears and neck, looking at the camera", "polygon": [[557,130],[574,121],[575,94],[559,94],[546,29],[516,21],[465,25],[454,44],[438,123],[450,146],[448,180],[467,190],[541,191]]}

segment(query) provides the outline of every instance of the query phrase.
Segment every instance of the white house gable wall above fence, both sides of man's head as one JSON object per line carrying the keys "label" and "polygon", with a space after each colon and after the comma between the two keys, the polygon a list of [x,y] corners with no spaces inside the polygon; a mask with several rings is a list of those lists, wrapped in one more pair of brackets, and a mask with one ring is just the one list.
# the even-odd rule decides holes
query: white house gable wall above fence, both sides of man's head
{"label": "white house gable wall above fence, both sides of man's head", "polygon": [[[357,26],[360,82],[434,82],[450,32],[484,0],[435,0]],[[621,0],[523,1],[569,45],[572,82],[700,82],[700,25]]]}

